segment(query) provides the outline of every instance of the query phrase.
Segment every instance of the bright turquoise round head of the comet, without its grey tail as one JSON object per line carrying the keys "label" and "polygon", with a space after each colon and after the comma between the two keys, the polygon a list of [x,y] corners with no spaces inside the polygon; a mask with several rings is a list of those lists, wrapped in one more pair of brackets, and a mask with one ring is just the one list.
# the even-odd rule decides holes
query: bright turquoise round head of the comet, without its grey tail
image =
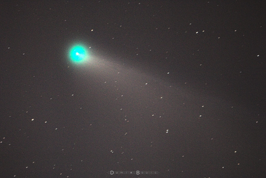
{"label": "bright turquoise round head of the comet, without its grey tail", "polygon": [[73,62],[84,62],[87,59],[87,51],[83,46],[77,45],[70,50],[70,59]]}

